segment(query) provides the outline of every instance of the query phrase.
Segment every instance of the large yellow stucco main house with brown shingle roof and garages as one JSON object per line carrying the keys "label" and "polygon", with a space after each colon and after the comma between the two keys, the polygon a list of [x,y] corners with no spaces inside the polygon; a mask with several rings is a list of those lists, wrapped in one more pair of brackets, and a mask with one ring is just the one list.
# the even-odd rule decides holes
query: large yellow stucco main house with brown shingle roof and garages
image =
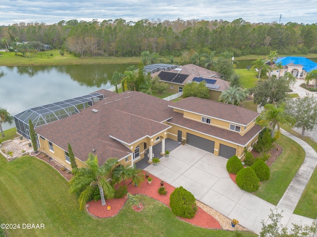
{"label": "large yellow stucco main house with brown shingle roof and garages", "polygon": [[258,140],[261,127],[255,124],[258,113],[224,103],[189,97],[171,103],[137,91],[120,94],[104,89],[103,100],[80,113],[35,128],[40,148],[70,168],[68,142],[79,167],[89,153],[100,164],[118,158],[133,165],[142,158],[152,162],[153,146],[165,139],[209,151],[216,156],[243,158]]}

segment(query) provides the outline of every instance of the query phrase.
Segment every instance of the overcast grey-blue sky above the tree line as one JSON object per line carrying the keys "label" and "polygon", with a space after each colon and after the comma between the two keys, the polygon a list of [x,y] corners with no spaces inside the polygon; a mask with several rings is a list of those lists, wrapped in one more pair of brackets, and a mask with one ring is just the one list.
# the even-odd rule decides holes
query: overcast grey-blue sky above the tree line
{"label": "overcast grey-blue sky above the tree line", "polygon": [[0,0],[0,25],[122,18],[317,23],[317,0]]}

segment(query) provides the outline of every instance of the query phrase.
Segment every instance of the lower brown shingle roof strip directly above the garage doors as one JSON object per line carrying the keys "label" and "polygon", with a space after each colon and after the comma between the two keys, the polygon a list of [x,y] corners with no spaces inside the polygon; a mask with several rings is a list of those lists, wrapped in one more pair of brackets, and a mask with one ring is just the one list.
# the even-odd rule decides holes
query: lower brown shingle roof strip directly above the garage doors
{"label": "lower brown shingle roof strip directly above the garage doors", "polygon": [[205,124],[188,118],[184,118],[183,114],[174,112],[173,118],[167,121],[167,124],[175,124],[182,127],[189,128],[194,131],[198,131],[212,137],[216,137],[222,140],[233,142],[241,146],[246,146],[253,137],[255,137],[261,130],[261,126],[255,125],[243,136],[238,132],[222,129],[219,127]]}

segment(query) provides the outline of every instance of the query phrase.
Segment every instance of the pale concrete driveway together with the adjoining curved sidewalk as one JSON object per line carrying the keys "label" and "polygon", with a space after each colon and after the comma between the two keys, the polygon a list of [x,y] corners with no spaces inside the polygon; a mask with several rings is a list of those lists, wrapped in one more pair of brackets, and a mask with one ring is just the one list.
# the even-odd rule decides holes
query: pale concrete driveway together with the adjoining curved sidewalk
{"label": "pale concrete driveway together with the adjoining curved sidewalk", "polygon": [[241,226],[256,234],[261,232],[262,220],[267,222],[270,210],[284,210],[282,224],[289,230],[291,223],[311,225],[314,219],[292,213],[316,167],[317,153],[301,139],[283,133],[303,146],[306,158],[277,207],[235,185],[226,170],[227,159],[188,144],[170,152],[169,158],[161,158],[158,166],[150,165],[145,170],[174,187],[183,186],[199,201],[230,219],[238,219]]}

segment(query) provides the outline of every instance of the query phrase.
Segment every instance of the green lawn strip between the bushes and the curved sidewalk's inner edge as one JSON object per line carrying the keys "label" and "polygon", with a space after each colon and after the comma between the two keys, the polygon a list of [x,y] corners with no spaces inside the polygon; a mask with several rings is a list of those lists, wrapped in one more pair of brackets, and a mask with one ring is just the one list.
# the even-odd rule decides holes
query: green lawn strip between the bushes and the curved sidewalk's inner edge
{"label": "green lawn strip between the bushes and the curved sidewalk's inner edge", "polygon": [[254,193],[274,205],[285,193],[305,158],[304,149],[290,138],[281,134],[276,143],[282,146],[283,153],[270,167],[270,178]]}

